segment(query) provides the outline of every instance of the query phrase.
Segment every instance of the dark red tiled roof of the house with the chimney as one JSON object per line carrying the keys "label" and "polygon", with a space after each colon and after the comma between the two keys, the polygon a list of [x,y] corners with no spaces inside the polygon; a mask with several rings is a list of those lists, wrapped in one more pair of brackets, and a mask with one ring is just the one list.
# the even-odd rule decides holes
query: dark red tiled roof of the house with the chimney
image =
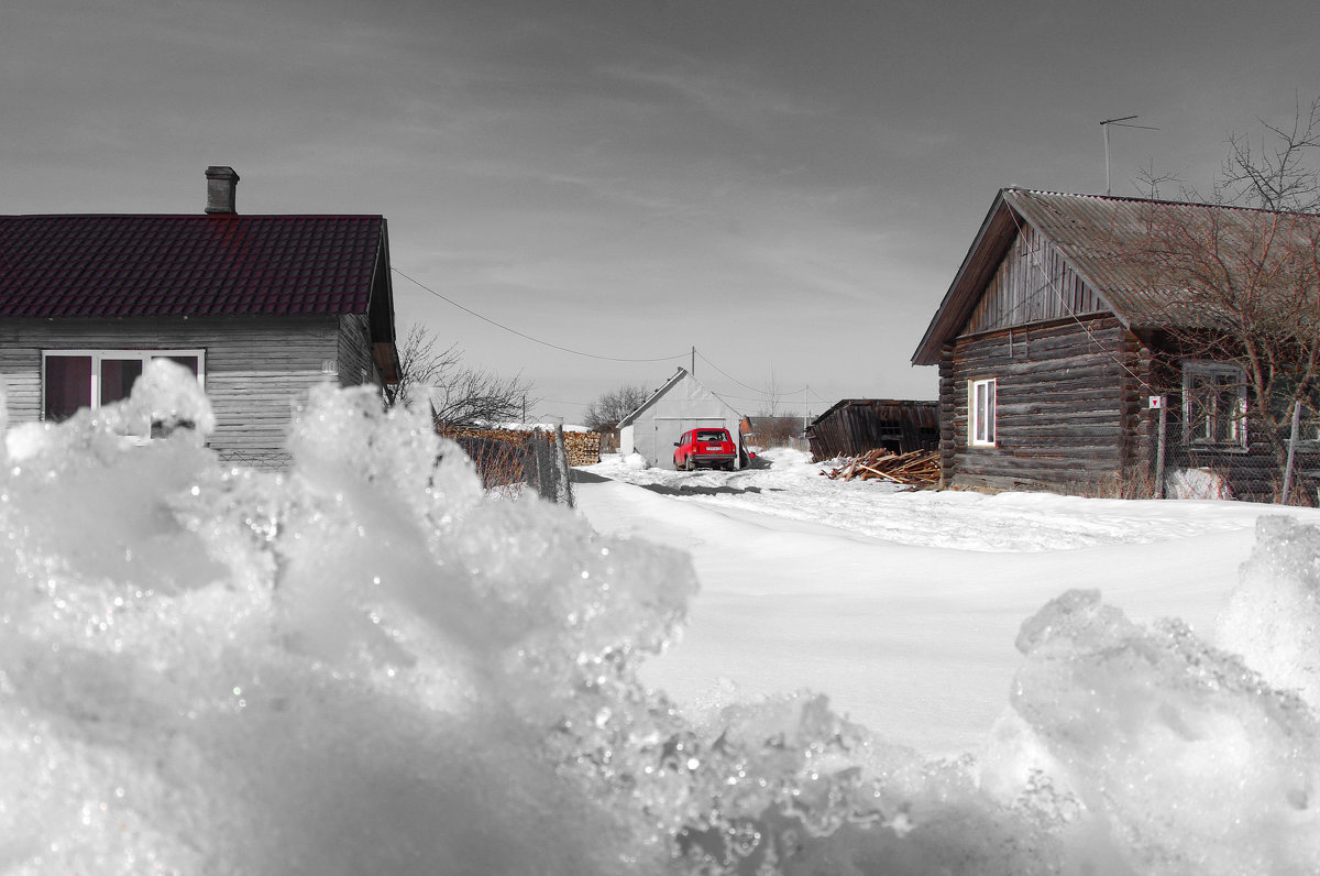
{"label": "dark red tiled roof of the house with the chimney", "polygon": [[0,317],[367,313],[379,215],[0,215]]}

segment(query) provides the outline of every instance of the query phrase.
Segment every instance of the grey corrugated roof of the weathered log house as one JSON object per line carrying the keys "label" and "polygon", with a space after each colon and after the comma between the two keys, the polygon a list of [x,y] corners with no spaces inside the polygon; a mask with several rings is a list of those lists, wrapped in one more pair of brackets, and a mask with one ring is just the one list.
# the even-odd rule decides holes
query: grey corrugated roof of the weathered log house
{"label": "grey corrugated roof of the weathered log house", "polygon": [[1258,246],[1266,234],[1282,230],[1299,242],[1320,235],[1320,217],[1270,213],[1245,207],[1096,194],[1067,194],[1003,189],[995,197],[972,248],[921,338],[912,362],[935,365],[940,346],[962,329],[989,275],[998,267],[1022,223],[1031,225],[1059,247],[1114,314],[1129,326],[1158,328],[1192,322],[1197,313],[1180,312],[1185,288],[1171,287],[1151,229],[1214,229],[1221,239],[1241,247]]}

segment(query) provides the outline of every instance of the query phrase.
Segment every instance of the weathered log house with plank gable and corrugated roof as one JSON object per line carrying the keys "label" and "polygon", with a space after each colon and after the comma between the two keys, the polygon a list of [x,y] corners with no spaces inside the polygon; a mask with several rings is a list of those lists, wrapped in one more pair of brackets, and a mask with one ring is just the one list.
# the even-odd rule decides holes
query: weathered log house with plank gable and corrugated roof
{"label": "weathered log house with plank gable and corrugated roof", "polygon": [[[1154,485],[1159,411],[1167,466],[1204,466],[1239,498],[1270,499],[1280,472],[1246,416],[1241,369],[1175,342],[1179,289],[1143,263],[1152,217],[1236,223],[1262,211],[1061,194],[998,193],[913,365],[940,369],[941,482],[1088,492]],[[1183,313],[1183,316],[1180,316]],[[1206,387],[1212,391],[1206,392]],[[1316,439],[1311,423],[1303,437]],[[1315,440],[1300,466],[1320,464]]]}

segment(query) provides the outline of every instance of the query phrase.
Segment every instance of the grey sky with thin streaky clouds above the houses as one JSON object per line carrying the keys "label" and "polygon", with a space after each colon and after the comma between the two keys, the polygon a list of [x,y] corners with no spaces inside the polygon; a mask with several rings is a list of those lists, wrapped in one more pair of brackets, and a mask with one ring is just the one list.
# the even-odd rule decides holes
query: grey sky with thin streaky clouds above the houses
{"label": "grey sky with thin streaky clouds above the houses", "polygon": [[0,213],[379,213],[400,337],[581,416],[935,398],[912,351],[1007,185],[1206,190],[1320,95],[1320,4],[21,0]]}

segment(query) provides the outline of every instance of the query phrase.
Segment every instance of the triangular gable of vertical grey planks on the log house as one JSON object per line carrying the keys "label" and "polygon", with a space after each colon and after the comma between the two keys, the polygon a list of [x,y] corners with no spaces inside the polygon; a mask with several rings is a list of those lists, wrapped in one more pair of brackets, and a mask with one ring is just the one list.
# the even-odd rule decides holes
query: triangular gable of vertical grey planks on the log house
{"label": "triangular gable of vertical grey planks on the log house", "polygon": [[1059,248],[1028,225],[1022,227],[999,270],[990,277],[962,334],[1105,309]]}

